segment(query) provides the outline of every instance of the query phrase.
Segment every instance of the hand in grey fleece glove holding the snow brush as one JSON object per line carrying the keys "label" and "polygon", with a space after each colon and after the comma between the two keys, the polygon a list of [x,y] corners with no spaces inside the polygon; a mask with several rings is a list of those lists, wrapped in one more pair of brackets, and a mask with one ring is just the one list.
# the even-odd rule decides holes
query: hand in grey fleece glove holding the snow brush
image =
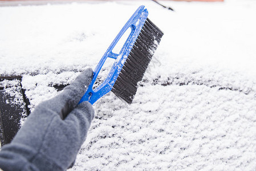
{"label": "hand in grey fleece glove holding the snow brush", "polygon": [[3,170],[66,170],[86,139],[94,118],[88,101],[79,103],[91,83],[84,71],[58,96],[43,101],[27,118],[10,144],[0,152]]}

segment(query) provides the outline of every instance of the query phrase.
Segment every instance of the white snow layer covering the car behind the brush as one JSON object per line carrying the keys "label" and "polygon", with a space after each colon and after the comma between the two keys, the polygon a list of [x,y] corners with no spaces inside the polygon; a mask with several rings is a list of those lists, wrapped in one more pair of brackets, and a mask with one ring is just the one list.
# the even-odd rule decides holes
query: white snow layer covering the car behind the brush
{"label": "white snow layer covering the car behind the brush", "polygon": [[[113,93],[70,170],[255,170],[256,2],[87,2],[0,7],[0,74],[31,108],[95,68],[145,5],[164,36],[131,105]],[[107,74],[109,67],[104,67]]]}

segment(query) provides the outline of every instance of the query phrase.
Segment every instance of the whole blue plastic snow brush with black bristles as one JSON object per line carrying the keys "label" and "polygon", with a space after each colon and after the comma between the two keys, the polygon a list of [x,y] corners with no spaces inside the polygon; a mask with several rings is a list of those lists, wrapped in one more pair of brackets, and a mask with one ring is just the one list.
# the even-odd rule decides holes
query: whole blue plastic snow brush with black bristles
{"label": "whole blue plastic snow brush with black bristles", "polygon": [[[137,91],[137,83],[142,80],[161,37],[164,35],[147,17],[148,10],[144,9],[144,6],[140,6],[135,11],[97,64],[92,82],[79,103],[89,101],[94,104],[109,91],[127,103],[132,103]],[[131,33],[121,51],[119,54],[112,52],[128,28],[131,28]],[[96,78],[107,58],[113,58],[115,62],[104,82],[93,89]]]}

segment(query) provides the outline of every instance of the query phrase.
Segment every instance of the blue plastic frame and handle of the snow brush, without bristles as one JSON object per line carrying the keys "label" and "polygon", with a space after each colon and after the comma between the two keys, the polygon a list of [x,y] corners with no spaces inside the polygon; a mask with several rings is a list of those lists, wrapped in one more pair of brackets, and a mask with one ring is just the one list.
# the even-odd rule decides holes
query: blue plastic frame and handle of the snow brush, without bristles
{"label": "blue plastic frame and handle of the snow brush, without bristles", "polygon": [[[113,40],[111,45],[108,47],[108,50],[105,52],[100,62],[97,64],[97,67],[95,68],[95,71],[94,71],[94,77],[92,78],[92,82],[88,86],[88,89],[86,93],[84,93],[82,99],[79,101],[79,104],[82,103],[83,101],[89,101],[91,104],[94,104],[95,101],[100,99],[100,97],[104,96],[106,93],[111,91],[122,67],[124,66],[127,56],[129,55],[129,52],[132,50],[133,44],[135,43],[137,37],[139,36],[140,31],[148,17],[148,10],[144,9],[144,7],[145,6],[140,6],[135,11],[135,13],[132,15],[129,21],[124,25],[124,27],[121,29],[119,34],[116,36],[116,38]],[[112,52],[113,48],[116,46],[121,36],[123,36],[124,32],[127,31],[129,27],[131,28],[131,34],[129,34],[127,40],[125,41],[123,47],[121,48],[121,51],[119,52],[119,54],[113,53]],[[98,86],[97,88],[93,89],[92,87],[94,86],[96,78],[107,58],[113,58],[116,60],[113,63],[113,66],[109,71],[107,78],[104,80],[104,82],[101,83],[100,86]]]}

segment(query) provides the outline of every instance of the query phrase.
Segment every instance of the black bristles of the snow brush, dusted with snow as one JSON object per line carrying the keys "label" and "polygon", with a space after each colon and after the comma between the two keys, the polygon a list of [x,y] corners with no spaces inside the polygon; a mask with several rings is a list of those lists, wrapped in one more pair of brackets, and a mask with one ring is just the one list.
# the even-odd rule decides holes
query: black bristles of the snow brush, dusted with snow
{"label": "black bristles of the snow brush, dusted with snow", "polygon": [[128,104],[131,104],[135,97],[137,83],[143,79],[162,35],[164,33],[147,18],[111,89],[117,97]]}

